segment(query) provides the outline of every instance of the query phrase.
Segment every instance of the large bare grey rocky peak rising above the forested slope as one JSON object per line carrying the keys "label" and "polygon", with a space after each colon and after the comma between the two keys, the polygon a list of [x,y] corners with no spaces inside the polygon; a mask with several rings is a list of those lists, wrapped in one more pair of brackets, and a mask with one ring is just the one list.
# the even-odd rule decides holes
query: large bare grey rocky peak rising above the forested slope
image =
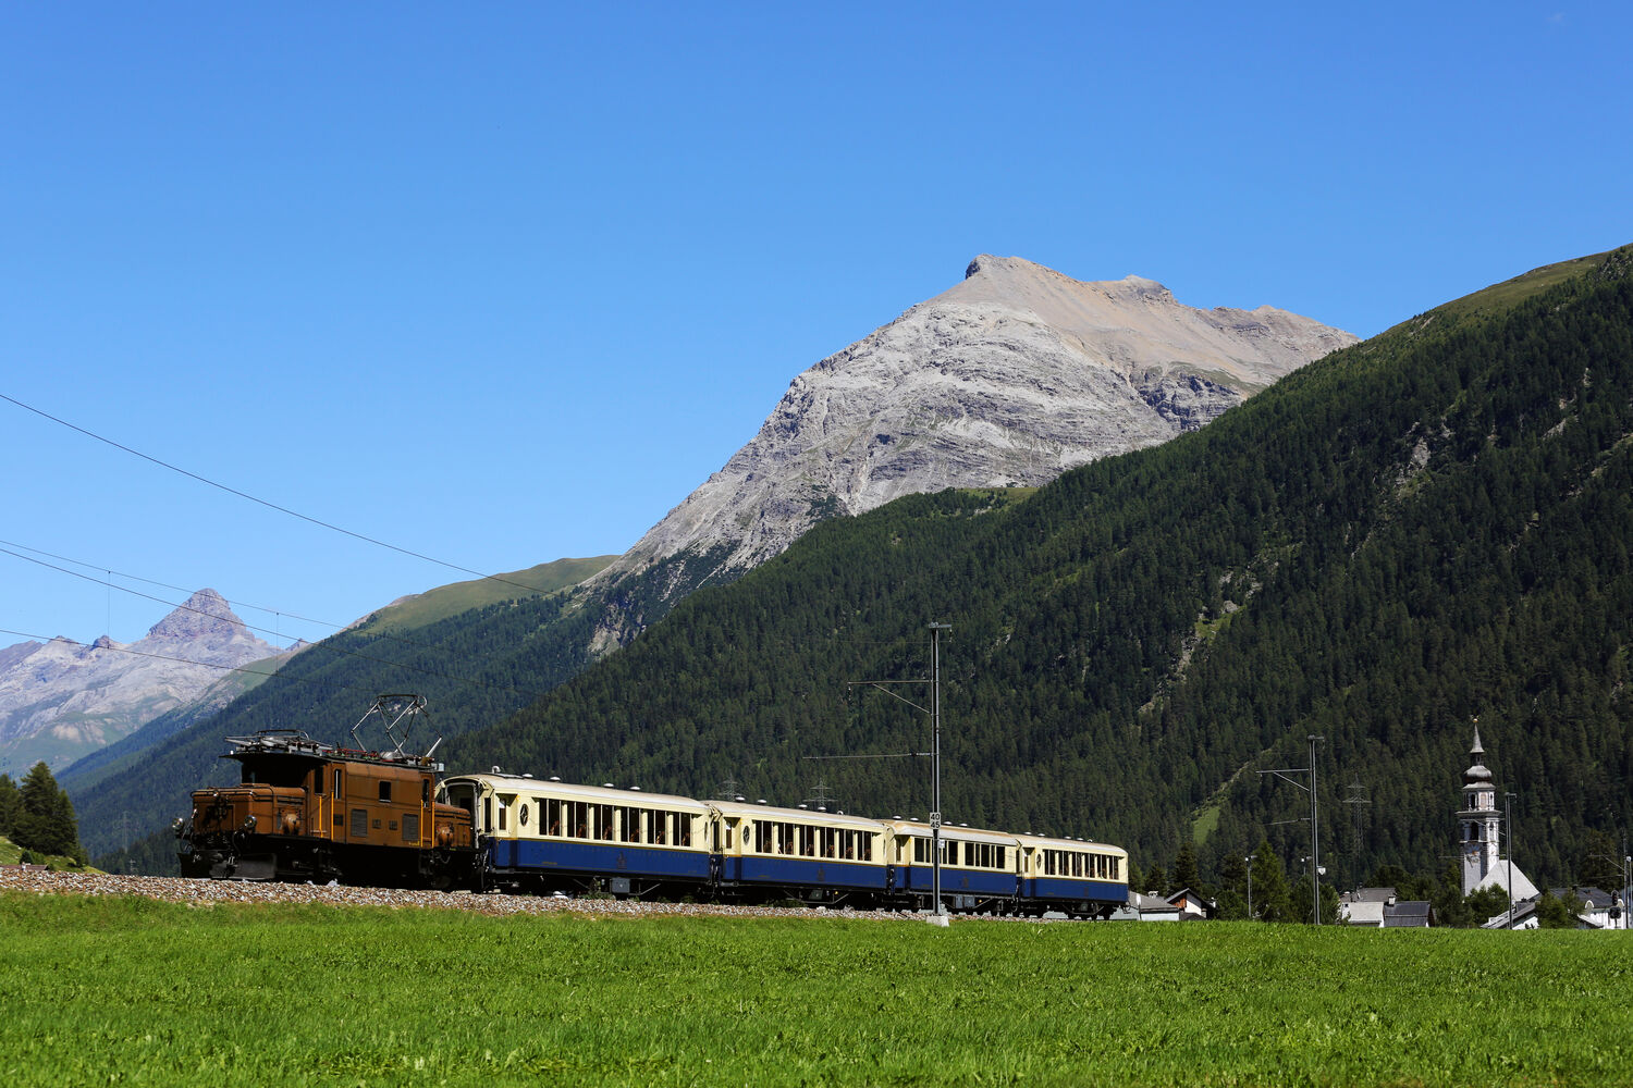
{"label": "large bare grey rocky peak rising above the forested slope", "polygon": [[748,571],[823,517],[1043,484],[1194,431],[1355,339],[1272,307],[1186,307],[1138,276],[1079,282],[978,256],[959,285],[794,378],[748,445],[586,582],[612,602],[598,646],[655,618],[621,604],[630,579],[656,577],[663,600]]}

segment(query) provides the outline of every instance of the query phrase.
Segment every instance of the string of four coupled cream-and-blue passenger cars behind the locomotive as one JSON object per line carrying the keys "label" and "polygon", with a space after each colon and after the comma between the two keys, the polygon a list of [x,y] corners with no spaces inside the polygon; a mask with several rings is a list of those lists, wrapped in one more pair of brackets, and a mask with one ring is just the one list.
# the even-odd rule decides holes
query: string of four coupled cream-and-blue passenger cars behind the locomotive
{"label": "string of four coupled cream-and-blue passenger cars behind the locomotive", "polygon": [[[457,775],[439,801],[470,816],[477,887],[629,897],[923,909],[932,835],[918,820],[696,801],[531,775]],[[1128,899],[1128,853],[1107,843],[941,829],[954,912],[1104,918]]]}

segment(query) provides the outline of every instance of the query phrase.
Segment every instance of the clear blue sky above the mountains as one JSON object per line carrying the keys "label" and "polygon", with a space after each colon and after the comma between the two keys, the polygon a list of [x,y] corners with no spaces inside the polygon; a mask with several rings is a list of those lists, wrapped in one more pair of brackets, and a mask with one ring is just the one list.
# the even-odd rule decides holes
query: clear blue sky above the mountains
{"label": "clear blue sky above the mountains", "polygon": [[[1633,241],[1630,5],[1328,7],[7,5],[0,393],[498,573],[625,550],[978,253],[1372,334]],[[462,577],[3,401],[0,458],[0,540],[281,641]]]}

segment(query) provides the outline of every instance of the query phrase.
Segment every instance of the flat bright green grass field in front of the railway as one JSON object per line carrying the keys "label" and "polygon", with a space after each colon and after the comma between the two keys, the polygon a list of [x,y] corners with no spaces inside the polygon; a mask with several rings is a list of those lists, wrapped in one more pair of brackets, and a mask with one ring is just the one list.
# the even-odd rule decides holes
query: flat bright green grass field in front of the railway
{"label": "flat bright green grass field in front of the railway", "polygon": [[0,896],[7,1085],[1620,1085],[1633,943]]}

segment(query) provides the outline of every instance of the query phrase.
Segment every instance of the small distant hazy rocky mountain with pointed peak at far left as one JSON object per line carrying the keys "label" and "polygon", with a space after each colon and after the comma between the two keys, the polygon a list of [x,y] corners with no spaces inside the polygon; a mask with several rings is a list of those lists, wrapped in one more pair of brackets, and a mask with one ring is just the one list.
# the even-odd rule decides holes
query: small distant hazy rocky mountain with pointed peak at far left
{"label": "small distant hazy rocky mountain with pointed peak at far left", "polygon": [[201,589],[131,644],[106,635],[90,646],[65,638],[0,651],[0,770],[44,759],[60,768],[176,706],[237,669],[278,654]]}

